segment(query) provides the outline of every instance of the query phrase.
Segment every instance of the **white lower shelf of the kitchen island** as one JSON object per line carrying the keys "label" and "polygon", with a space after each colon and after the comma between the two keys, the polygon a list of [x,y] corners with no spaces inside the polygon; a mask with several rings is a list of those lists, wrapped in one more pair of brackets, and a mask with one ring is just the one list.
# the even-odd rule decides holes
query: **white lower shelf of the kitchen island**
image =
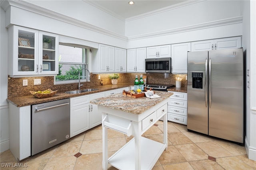
{"label": "white lower shelf of the kitchen island", "polygon": [[[161,156],[166,144],[141,137],[141,169],[149,170],[154,167]],[[135,169],[135,141],[134,138],[108,158],[108,163],[120,170]]]}

